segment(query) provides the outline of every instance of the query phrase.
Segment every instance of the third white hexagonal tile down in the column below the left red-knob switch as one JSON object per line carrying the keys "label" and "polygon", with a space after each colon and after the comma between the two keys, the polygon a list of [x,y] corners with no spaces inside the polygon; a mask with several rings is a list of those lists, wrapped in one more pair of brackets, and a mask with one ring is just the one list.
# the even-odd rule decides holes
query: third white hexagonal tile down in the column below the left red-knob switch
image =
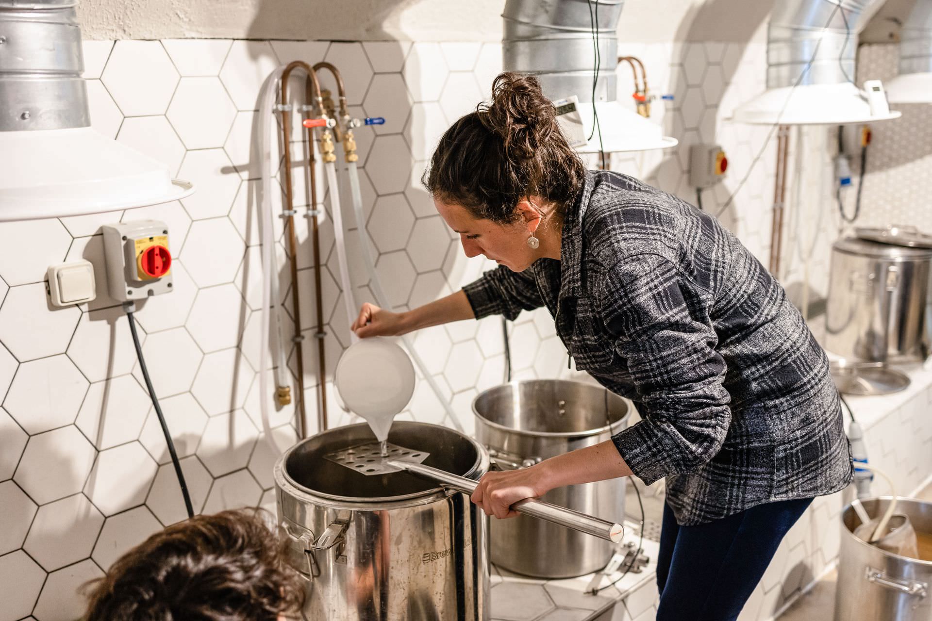
{"label": "third white hexagonal tile down in the column below the left red-knob switch", "polygon": [[103,515],[112,516],[145,502],[157,469],[139,442],[107,449],[97,455],[84,493]]}

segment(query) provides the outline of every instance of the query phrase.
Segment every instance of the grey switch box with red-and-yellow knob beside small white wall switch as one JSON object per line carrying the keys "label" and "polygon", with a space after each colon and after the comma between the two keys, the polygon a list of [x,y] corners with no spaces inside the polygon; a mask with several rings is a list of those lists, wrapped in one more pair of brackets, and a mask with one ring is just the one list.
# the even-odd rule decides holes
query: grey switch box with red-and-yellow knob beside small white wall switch
{"label": "grey switch box with red-and-yellow knob beside small white wall switch", "polygon": [[141,300],[171,291],[169,229],[158,220],[137,220],[103,226],[110,297],[120,302]]}

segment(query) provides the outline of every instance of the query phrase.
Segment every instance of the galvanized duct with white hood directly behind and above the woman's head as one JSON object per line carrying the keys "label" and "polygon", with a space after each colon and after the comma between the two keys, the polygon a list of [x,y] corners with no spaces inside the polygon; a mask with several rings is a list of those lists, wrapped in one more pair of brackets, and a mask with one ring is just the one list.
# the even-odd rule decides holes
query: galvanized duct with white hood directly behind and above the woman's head
{"label": "galvanized duct with white hood directly behind and above the woman's head", "polygon": [[[624,0],[507,0],[503,21],[502,66],[506,71],[536,74],[551,100],[575,95],[593,101],[596,53],[593,26],[598,34],[598,78],[595,101],[601,142],[591,140],[582,153],[644,151],[675,146],[660,126],[634,112],[631,102],[618,101],[618,20]],[[592,12],[590,12],[590,10]],[[580,106],[583,127],[594,123],[591,105]]]}

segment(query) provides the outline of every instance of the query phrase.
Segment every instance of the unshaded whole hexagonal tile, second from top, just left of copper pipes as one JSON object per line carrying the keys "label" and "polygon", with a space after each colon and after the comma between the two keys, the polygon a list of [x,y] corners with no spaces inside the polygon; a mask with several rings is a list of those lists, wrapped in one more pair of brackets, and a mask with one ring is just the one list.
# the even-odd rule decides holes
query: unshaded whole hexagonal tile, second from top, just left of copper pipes
{"label": "unshaded whole hexagonal tile, second from top, just left of copper pipes", "polygon": [[171,98],[168,116],[188,149],[223,146],[236,106],[216,77],[183,77]]}

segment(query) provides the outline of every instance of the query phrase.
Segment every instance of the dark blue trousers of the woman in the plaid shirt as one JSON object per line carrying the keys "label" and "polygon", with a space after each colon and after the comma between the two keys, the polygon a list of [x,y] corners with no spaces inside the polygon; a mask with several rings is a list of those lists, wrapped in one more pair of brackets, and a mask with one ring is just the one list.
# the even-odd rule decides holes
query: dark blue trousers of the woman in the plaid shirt
{"label": "dark blue trousers of the woman in the plaid shirt", "polygon": [[657,621],[736,619],[783,536],[812,501],[752,506],[696,526],[679,526],[665,505],[657,555]]}

